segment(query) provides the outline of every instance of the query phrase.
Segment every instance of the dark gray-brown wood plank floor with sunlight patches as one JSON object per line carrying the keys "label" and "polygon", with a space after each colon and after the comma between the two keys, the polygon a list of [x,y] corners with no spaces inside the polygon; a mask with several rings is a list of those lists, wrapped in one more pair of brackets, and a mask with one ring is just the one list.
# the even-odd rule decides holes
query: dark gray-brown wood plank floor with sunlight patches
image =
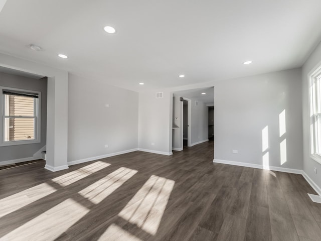
{"label": "dark gray-brown wood plank floor with sunlight patches", "polygon": [[213,164],[213,142],[0,170],[0,240],[321,240],[301,175]]}

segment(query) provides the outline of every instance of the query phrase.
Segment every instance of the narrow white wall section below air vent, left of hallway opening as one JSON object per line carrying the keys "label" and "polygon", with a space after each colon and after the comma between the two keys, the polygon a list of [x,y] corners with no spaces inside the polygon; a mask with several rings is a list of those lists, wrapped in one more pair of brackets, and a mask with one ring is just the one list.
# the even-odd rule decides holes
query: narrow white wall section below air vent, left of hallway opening
{"label": "narrow white wall section below air vent, left of hallway opening", "polygon": [[156,99],[155,92],[139,93],[138,148],[171,155],[173,94],[164,91],[164,97]]}

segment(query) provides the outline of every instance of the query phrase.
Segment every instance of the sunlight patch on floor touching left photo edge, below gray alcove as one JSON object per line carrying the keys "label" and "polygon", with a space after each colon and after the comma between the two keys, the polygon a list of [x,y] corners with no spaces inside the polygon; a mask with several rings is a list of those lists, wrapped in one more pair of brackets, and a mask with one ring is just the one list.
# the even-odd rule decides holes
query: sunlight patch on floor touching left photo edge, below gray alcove
{"label": "sunlight patch on floor touching left photo edge, below gray alcove", "polygon": [[0,217],[12,213],[28,204],[35,202],[53,192],[56,189],[47,183],[39,184],[24,191],[5,197],[0,200]]}

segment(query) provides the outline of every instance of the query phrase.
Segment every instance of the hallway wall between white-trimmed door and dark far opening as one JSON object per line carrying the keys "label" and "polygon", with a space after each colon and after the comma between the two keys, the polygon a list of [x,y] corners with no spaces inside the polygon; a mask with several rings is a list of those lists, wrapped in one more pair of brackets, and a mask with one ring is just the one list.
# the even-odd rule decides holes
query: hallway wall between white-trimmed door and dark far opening
{"label": "hallway wall between white-trimmed door and dark far opening", "polygon": [[[196,98],[191,99],[191,145],[208,140],[208,107]],[[196,106],[195,101],[198,101]]]}

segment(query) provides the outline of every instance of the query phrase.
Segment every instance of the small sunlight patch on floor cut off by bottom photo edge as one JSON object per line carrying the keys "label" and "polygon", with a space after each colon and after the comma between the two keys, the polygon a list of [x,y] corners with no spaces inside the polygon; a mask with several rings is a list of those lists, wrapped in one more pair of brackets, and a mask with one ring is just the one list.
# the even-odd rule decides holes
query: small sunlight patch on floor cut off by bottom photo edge
{"label": "small sunlight patch on floor cut off by bottom photo edge", "polygon": [[111,224],[106,231],[99,237],[98,241],[141,241],[138,237],[125,231],[116,224]]}

